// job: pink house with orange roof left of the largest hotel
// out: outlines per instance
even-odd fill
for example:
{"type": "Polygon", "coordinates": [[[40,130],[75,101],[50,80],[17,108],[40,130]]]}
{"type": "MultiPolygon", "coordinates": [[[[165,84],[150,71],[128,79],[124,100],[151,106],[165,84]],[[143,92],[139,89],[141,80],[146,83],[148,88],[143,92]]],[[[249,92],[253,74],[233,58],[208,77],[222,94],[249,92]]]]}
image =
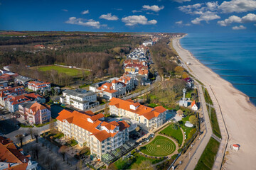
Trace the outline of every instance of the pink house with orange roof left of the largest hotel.
{"type": "Polygon", "coordinates": [[[21,118],[28,120],[30,125],[43,124],[50,121],[50,110],[37,101],[28,101],[18,106],[18,113],[21,118]]]}

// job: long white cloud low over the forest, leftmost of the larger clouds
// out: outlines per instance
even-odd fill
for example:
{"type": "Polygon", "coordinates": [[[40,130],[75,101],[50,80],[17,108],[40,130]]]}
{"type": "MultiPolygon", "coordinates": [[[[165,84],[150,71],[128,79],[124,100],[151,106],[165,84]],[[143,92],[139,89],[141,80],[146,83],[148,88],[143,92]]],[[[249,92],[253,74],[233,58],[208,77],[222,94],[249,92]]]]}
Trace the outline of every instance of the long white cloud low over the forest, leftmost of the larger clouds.
{"type": "Polygon", "coordinates": [[[68,21],[65,21],[65,23],[70,23],[70,24],[75,24],[75,25],[80,25],[80,26],[90,26],[93,28],[100,28],[100,22],[99,21],[94,21],[92,19],[85,21],[83,18],[75,18],[75,17],[70,17],[68,18],[68,21]]]}

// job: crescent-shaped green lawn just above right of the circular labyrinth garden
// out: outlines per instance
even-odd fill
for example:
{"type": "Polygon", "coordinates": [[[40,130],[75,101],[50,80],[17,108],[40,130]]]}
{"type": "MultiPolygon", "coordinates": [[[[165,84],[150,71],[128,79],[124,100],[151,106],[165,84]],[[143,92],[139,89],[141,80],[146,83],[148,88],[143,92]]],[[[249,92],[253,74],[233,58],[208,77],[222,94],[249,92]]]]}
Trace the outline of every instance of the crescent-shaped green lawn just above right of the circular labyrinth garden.
{"type": "Polygon", "coordinates": [[[164,130],[161,130],[161,132],[159,132],[162,135],[167,135],[169,137],[174,137],[174,139],[176,139],[178,141],[178,145],[181,146],[182,144],[182,140],[183,140],[183,134],[181,132],[181,129],[176,126],[175,129],[174,124],[171,124],[169,126],[167,126],[166,128],[164,128],[164,130]]]}

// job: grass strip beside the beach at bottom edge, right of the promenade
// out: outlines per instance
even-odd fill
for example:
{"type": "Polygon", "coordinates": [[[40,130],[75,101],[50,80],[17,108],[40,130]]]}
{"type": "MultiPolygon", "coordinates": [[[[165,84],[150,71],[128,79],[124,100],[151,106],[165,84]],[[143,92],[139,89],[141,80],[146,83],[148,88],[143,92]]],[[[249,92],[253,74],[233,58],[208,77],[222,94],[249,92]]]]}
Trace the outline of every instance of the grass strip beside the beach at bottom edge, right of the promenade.
{"type": "Polygon", "coordinates": [[[214,140],[212,137],[210,137],[210,140],[206,146],[206,149],[203,151],[203,154],[201,155],[195,170],[212,169],[214,164],[214,158],[218,152],[219,146],[220,146],[220,143],[214,140]]]}

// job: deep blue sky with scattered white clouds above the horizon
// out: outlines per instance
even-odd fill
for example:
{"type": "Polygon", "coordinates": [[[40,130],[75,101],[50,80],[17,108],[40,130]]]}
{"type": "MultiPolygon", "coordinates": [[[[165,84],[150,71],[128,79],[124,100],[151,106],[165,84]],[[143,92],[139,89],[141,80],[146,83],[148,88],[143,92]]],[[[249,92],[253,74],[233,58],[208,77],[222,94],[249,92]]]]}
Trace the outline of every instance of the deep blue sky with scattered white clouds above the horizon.
{"type": "Polygon", "coordinates": [[[256,0],[0,0],[0,30],[256,33],[256,0]]]}

